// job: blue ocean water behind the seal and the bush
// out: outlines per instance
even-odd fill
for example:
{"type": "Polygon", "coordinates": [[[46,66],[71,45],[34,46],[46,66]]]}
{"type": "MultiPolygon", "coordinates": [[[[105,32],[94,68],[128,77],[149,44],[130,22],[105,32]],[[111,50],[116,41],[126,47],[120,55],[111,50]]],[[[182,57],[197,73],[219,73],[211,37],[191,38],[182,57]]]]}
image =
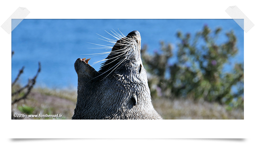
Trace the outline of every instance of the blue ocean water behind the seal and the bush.
{"type": "MultiPolygon", "coordinates": [[[[12,31],[12,81],[18,70],[25,66],[20,83],[27,83],[41,62],[42,70],[37,78],[37,86],[49,88],[77,87],[77,75],[74,62],[77,58],[91,58],[89,64],[106,58],[106,55],[95,54],[110,51],[90,43],[108,45],[110,43],[97,34],[114,39],[111,31],[120,30],[124,35],[137,30],[142,38],[142,46],[148,45],[148,51],[159,50],[160,41],[172,43],[174,53],[177,51],[177,31],[191,33],[201,31],[207,25],[210,29],[221,27],[217,43],[224,43],[226,32],[234,31],[238,38],[238,55],[225,66],[224,71],[231,70],[234,62],[244,62],[244,31],[233,19],[24,19],[12,31]],[[107,32],[106,32],[107,31],[107,32]]],[[[112,46],[112,45],[110,45],[112,46]]],[[[174,57],[171,62],[175,62],[174,57]]],[[[93,65],[97,70],[101,63],[93,65]]]]}

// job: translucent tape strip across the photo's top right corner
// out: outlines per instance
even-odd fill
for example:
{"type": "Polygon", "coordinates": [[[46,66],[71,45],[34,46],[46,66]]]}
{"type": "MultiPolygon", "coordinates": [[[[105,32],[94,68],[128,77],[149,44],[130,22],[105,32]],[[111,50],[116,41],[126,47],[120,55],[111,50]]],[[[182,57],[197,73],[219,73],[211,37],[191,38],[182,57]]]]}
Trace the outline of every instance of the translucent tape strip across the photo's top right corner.
{"type": "Polygon", "coordinates": [[[230,6],[226,9],[226,13],[238,23],[238,25],[247,33],[253,26],[254,23],[245,16],[244,13],[237,6],[230,6]],[[244,20],[244,21],[242,21],[244,20]]]}

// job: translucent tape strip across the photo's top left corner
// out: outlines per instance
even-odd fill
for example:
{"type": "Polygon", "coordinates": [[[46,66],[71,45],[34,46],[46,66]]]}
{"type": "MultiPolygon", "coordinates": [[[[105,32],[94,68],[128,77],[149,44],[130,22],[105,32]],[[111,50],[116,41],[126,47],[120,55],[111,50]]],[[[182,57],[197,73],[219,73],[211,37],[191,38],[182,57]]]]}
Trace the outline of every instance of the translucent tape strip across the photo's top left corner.
{"type": "Polygon", "coordinates": [[[2,24],[2,28],[10,34],[15,27],[30,13],[26,8],[18,7],[12,15],[2,24]]]}

